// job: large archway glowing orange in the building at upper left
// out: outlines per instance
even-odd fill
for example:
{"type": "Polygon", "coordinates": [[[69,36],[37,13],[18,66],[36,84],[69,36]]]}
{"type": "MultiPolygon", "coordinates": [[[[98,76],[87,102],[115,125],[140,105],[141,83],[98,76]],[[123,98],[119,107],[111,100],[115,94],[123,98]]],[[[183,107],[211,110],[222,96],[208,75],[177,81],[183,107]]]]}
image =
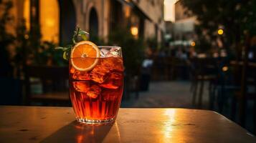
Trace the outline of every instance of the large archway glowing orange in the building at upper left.
{"type": "Polygon", "coordinates": [[[72,0],[24,0],[23,15],[27,29],[35,36],[39,35],[39,26],[43,41],[54,41],[62,45],[70,43],[76,26],[72,0]],[[32,11],[35,11],[34,14],[32,11]]]}

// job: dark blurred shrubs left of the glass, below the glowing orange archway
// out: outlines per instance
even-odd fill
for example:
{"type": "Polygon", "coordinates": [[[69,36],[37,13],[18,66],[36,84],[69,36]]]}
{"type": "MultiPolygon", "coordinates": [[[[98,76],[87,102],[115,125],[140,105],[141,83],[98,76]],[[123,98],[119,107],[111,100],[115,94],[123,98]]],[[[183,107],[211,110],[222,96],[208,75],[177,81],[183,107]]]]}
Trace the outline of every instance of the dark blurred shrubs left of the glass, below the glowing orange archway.
{"type": "MultiPolygon", "coordinates": [[[[35,30],[35,26],[34,26],[35,30]]],[[[39,30],[37,30],[39,31],[39,30]]],[[[34,65],[65,65],[62,52],[55,51],[56,45],[49,41],[40,41],[40,34],[34,36],[33,32],[26,29],[25,21],[16,28],[16,66],[26,64],[34,65]]]]}

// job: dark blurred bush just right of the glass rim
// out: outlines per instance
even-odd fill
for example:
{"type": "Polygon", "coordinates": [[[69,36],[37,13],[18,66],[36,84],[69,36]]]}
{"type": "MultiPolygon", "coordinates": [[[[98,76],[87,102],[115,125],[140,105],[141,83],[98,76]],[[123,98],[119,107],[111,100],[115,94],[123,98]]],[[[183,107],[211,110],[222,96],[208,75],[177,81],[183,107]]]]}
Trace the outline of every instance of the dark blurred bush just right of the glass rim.
{"type": "Polygon", "coordinates": [[[125,70],[131,75],[138,74],[145,49],[143,40],[135,39],[128,29],[117,28],[109,34],[108,44],[121,46],[125,70]]]}

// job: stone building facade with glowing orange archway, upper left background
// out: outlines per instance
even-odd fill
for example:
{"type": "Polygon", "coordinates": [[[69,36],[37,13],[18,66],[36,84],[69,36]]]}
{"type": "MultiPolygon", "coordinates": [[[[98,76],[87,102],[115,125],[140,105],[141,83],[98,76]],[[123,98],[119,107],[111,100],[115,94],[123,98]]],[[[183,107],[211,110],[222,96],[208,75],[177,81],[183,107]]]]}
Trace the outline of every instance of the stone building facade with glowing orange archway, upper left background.
{"type": "MultiPolygon", "coordinates": [[[[162,40],[163,0],[12,0],[14,26],[25,19],[27,30],[39,29],[43,41],[66,44],[75,26],[108,41],[118,26],[136,37],[162,40]]],[[[14,30],[13,30],[14,31],[14,30]]]]}

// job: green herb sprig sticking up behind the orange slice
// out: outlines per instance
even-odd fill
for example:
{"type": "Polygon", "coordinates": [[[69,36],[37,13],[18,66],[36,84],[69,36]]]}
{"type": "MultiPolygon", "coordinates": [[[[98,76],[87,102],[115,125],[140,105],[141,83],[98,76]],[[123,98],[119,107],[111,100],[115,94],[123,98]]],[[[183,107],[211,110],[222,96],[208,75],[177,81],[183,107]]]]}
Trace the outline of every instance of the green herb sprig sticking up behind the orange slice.
{"type": "Polygon", "coordinates": [[[89,33],[87,31],[83,31],[80,29],[79,26],[75,28],[74,35],[72,36],[72,44],[68,44],[66,46],[57,46],[55,47],[56,50],[62,50],[63,51],[63,59],[68,60],[70,58],[70,51],[75,44],[77,44],[77,39],[79,37],[82,38],[82,40],[87,40],[87,35],[89,33]]]}

